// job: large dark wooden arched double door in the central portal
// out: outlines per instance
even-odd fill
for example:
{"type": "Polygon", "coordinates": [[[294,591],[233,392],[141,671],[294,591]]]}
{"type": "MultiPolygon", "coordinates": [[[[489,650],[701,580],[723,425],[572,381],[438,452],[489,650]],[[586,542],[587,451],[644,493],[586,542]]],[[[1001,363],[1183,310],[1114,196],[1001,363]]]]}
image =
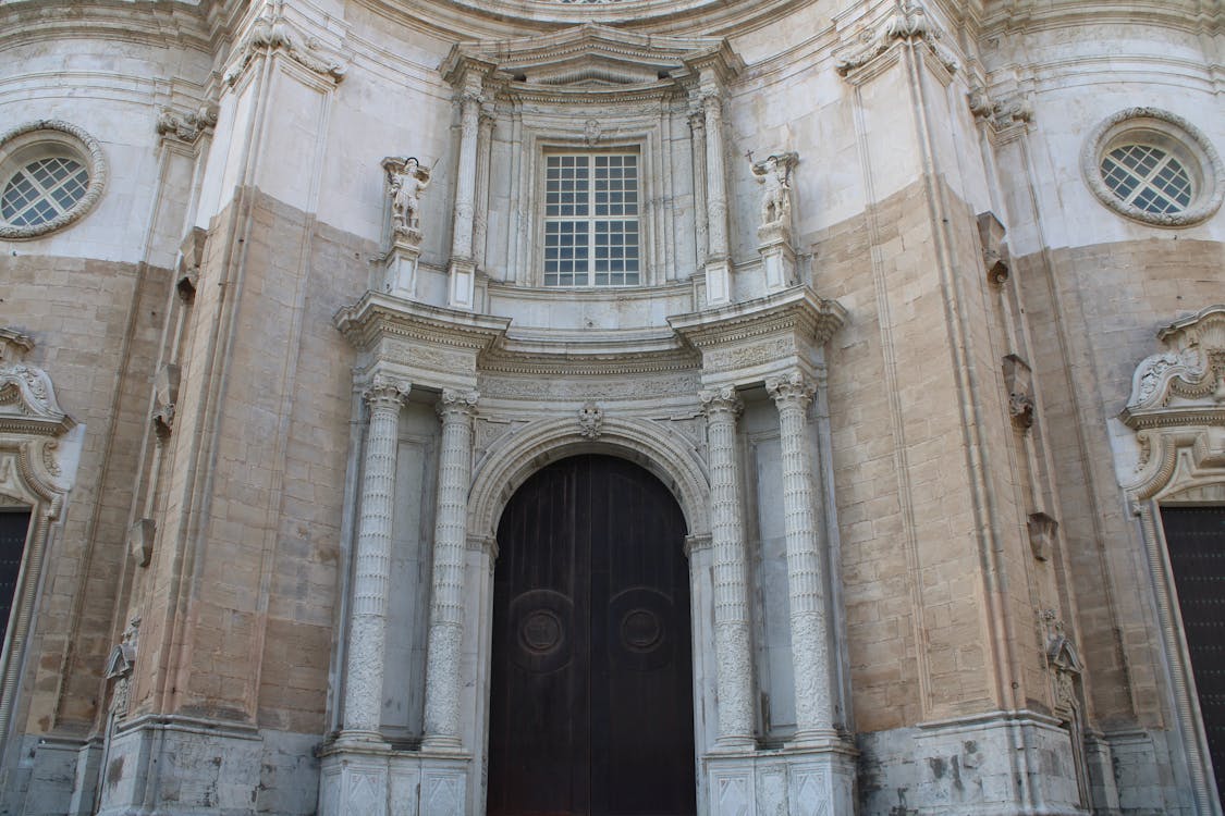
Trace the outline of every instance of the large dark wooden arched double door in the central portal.
{"type": "Polygon", "coordinates": [[[696,812],[685,521],[612,456],[537,472],[499,525],[489,814],[696,812]]]}

